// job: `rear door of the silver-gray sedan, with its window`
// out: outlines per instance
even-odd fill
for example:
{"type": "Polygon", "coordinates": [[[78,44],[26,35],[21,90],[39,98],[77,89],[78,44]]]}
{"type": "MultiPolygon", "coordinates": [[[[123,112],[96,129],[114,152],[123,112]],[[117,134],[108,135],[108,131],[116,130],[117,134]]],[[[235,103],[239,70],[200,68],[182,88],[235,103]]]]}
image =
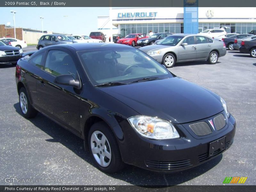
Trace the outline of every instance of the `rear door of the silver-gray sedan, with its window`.
{"type": "Polygon", "coordinates": [[[208,43],[204,36],[196,36],[196,59],[206,59],[211,50],[212,43],[208,43]]]}

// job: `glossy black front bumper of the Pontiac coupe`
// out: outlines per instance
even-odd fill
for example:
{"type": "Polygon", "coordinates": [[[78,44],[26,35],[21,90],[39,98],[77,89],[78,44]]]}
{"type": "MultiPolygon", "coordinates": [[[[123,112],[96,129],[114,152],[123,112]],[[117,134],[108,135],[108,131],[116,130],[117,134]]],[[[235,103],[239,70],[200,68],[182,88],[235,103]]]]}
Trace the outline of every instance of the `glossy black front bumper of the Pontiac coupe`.
{"type": "MultiPolygon", "coordinates": [[[[211,118],[213,117],[203,121],[208,122],[207,120],[211,118]]],[[[226,151],[231,146],[236,132],[236,121],[232,115],[224,128],[208,136],[194,136],[188,132],[188,128],[185,128],[186,124],[177,124],[175,127],[181,137],[169,140],[141,137],[127,127],[130,126],[128,121],[120,125],[126,135],[126,138],[119,143],[123,161],[153,172],[178,172],[203,164],[226,151]],[[210,143],[223,137],[225,137],[224,150],[216,148],[210,156],[210,143]]]]}

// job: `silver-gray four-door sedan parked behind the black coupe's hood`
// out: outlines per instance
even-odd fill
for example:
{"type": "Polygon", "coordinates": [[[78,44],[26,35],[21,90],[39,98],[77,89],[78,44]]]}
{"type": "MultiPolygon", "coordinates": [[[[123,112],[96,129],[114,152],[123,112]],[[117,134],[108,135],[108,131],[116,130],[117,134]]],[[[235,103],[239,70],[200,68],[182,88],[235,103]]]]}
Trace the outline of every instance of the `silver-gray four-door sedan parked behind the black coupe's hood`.
{"type": "Polygon", "coordinates": [[[155,45],[140,48],[166,68],[176,62],[207,60],[215,64],[219,57],[226,55],[223,42],[203,35],[175,34],[165,37],[155,45]]]}

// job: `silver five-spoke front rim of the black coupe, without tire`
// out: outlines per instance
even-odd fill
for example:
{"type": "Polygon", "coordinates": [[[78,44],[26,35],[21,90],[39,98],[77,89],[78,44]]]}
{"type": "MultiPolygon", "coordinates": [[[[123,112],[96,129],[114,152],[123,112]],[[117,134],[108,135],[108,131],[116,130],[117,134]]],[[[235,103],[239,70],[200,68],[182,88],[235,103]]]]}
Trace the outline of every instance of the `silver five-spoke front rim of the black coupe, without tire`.
{"type": "Polygon", "coordinates": [[[91,136],[92,155],[96,162],[107,167],[111,162],[111,149],[107,137],[100,131],[95,131],[91,136]]]}

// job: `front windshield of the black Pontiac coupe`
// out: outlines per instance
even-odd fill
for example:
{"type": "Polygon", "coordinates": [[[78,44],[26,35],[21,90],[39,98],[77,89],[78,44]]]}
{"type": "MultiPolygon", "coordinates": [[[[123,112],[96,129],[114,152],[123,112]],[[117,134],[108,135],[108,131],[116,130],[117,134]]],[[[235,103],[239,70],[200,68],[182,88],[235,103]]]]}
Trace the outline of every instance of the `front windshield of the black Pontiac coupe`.
{"type": "Polygon", "coordinates": [[[153,80],[173,77],[161,64],[137,49],[80,51],[78,55],[94,86],[109,82],[127,84],[144,78],[153,80]]]}

